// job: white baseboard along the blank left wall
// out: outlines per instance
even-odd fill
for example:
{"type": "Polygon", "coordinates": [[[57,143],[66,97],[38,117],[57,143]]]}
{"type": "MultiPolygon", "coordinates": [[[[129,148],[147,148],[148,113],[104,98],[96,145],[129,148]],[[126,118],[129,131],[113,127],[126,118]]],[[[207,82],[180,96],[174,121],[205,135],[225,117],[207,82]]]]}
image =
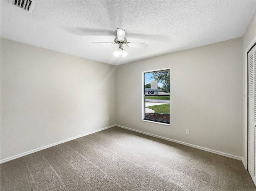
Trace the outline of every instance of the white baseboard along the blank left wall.
{"type": "Polygon", "coordinates": [[[75,137],[72,137],[72,138],[68,138],[66,140],[62,140],[62,141],[59,141],[59,142],[56,142],[56,143],[53,143],[53,144],[50,144],[50,145],[46,145],[46,146],[43,146],[43,147],[40,147],[40,148],[37,148],[37,149],[33,149],[33,150],[30,150],[30,151],[27,151],[27,152],[24,152],[24,153],[21,153],[21,154],[12,156],[12,157],[8,157],[8,158],[0,160],[0,163],[4,163],[4,162],[7,162],[7,161],[16,159],[16,158],[20,158],[20,157],[26,156],[28,154],[32,154],[32,153],[38,152],[40,150],[44,150],[44,149],[50,148],[52,146],[56,146],[58,144],[62,144],[62,143],[65,143],[65,142],[68,142],[68,141],[71,141],[71,140],[74,140],[74,139],[77,139],[77,138],[80,138],[80,137],[83,137],[83,136],[86,136],[86,135],[90,135],[90,134],[93,134],[93,133],[96,133],[96,132],[99,132],[99,131],[102,131],[102,130],[105,130],[105,129],[108,129],[108,128],[111,128],[111,127],[114,127],[114,126],[116,126],[116,125],[101,128],[101,129],[91,131],[91,132],[88,132],[88,133],[85,133],[85,134],[82,134],[82,135],[78,135],[78,136],[75,136],[75,137]]]}

